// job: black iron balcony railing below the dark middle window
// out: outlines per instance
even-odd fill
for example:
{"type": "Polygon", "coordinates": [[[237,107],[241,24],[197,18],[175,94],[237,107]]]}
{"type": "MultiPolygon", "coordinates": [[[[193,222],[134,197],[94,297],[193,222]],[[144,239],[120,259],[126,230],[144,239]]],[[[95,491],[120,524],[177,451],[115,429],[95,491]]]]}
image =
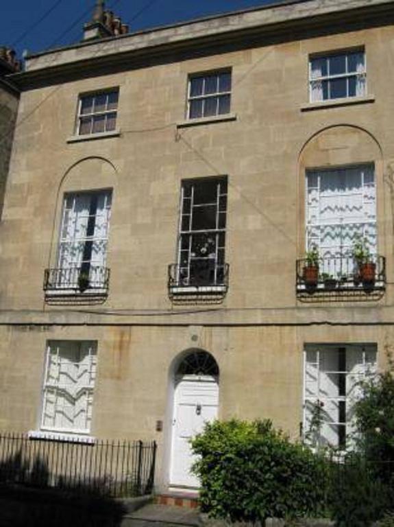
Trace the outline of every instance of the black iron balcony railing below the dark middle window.
{"type": "Polygon", "coordinates": [[[215,266],[212,260],[193,262],[190,267],[169,265],[169,293],[225,294],[228,289],[229,265],[215,266]]]}

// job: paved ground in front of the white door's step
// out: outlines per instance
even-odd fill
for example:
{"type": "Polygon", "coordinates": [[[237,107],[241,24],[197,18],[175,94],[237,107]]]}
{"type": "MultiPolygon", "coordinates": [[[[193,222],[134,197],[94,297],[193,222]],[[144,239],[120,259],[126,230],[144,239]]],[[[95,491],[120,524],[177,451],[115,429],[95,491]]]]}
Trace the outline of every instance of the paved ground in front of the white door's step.
{"type": "Polygon", "coordinates": [[[127,514],[123,518],[121,527],[198,527],[199,525],[199,512],[196,509],[149,504],[134,513],[127,514]]]}

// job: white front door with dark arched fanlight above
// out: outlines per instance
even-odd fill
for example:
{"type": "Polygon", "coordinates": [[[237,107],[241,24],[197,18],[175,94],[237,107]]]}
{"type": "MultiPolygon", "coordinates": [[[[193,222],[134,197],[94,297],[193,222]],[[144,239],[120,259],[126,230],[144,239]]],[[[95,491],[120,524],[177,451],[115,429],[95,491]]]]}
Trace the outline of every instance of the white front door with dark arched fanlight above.
{"type": "Polygon", "coordinates": [[[193,456],[188,439],[201,432],[206,421],[217,418],[217,361],[204,349],[186,349],[170,366],[169,388],[169,487],[197,489],[198,479],[190,473],[193,456]]]}

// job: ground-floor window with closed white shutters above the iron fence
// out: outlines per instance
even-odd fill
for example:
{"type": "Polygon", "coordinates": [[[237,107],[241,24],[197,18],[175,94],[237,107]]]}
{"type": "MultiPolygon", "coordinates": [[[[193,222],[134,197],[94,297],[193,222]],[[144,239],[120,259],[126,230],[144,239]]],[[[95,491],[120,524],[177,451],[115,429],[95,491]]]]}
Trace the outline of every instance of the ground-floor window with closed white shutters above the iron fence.
{"type": "Polygon", "coordinates": [[[42,430],[90,432],[97,342],[48,343],[42,400],[42,430]]]}

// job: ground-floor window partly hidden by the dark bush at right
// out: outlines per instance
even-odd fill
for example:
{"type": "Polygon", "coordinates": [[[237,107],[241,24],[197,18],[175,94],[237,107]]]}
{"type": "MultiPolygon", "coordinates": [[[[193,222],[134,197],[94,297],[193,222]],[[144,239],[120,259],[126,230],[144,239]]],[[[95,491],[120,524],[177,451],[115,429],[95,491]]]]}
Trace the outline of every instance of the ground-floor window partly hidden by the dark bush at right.
{"type": "Polygon", "coordinates": [[[360,382],[376,371],[375,344],[310,344],[304,359],[304,438],[310,445],[352,447],[360,382]]]}

